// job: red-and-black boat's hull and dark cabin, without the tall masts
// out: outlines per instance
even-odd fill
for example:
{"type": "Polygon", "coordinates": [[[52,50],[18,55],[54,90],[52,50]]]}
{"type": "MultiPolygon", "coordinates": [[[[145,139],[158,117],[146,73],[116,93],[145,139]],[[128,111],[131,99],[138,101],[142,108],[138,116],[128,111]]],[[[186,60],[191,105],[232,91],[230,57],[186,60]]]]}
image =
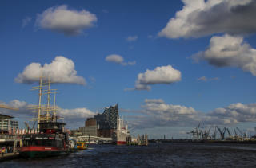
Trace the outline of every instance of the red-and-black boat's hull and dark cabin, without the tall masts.
{"type": "Polygon", "coordinates": [[[19,154],[24,158],[41,158],[68,154],[68,135],[62,132],[65,123],[40,123],[44,129],[38,134],[27,134],[22,137],[19,154]]]}

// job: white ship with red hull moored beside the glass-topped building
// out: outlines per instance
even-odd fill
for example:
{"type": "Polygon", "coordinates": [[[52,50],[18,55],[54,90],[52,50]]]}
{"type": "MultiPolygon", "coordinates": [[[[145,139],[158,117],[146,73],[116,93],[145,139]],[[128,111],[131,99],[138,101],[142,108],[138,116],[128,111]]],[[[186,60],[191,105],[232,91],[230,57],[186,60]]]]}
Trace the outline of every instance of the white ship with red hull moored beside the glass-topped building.
{"type": "Polygon", "coordinates": [[[127,139],[130,136],[128,125],[125,126],[123,119],[120,119],[120,117],[118,117],[117,130],[114,131],[114,134],[114,143],[117,145],[127,144],[127,139]]]}

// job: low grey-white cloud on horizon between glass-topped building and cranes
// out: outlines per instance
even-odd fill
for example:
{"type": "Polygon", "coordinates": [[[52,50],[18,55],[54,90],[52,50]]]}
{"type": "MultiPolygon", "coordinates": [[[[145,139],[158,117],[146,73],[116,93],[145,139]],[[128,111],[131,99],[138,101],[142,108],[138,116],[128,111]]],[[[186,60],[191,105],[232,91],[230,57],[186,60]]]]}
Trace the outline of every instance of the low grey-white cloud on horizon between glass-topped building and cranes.
{"type": "Polygon", "coordinates": [[[162,99],[146,99],[141,112],[144,115],[131,122],[133,127],[193,126],[198,123],[198,111],[194,108],[166,104],[162,99]]]}

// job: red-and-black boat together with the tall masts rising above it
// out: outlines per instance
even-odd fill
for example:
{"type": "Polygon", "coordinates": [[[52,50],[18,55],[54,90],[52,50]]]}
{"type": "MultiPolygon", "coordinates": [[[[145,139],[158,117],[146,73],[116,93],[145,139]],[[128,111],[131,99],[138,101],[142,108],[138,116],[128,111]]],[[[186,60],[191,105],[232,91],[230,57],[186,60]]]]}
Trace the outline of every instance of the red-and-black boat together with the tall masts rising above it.
{"type": "Polygon", "coordinates": [[[22,137],[22,146],[19,148],[19,154],[24,158],[42,158],[60,154],[68,154],[69,138],[65,132],[66,123],[58,121],[62,119],[56,114],[55,104],[56,89],[50,89],[50,79],[42,84],[40,78],[39,86],[34,87],[39,91],[38,106],[33,107],[38,111],[37,132],[26,134],[22,137]],[[54,106],[50,106],[50,94],[54,93],[54,106]],[[47,104],[42,105],[42,95],[47,96],[47,104]]]}

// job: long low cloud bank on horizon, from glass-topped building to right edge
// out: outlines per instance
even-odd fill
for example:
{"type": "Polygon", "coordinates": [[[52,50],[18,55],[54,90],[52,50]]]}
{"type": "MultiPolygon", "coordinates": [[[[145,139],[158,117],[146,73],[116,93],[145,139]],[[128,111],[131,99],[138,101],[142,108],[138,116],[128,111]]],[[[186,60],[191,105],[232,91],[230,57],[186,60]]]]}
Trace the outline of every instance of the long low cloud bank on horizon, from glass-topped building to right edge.
{"type": "Polygon", "coordinates": [[[256,121],[256,104],[230,104],[228,107],[202,112],[193,107],[166,104],[162,99],[146,99],[142,110],[137,112],[142,115],[131,122],[137,128],[194,127],[198,123],[229,126],[256,121]]]}

